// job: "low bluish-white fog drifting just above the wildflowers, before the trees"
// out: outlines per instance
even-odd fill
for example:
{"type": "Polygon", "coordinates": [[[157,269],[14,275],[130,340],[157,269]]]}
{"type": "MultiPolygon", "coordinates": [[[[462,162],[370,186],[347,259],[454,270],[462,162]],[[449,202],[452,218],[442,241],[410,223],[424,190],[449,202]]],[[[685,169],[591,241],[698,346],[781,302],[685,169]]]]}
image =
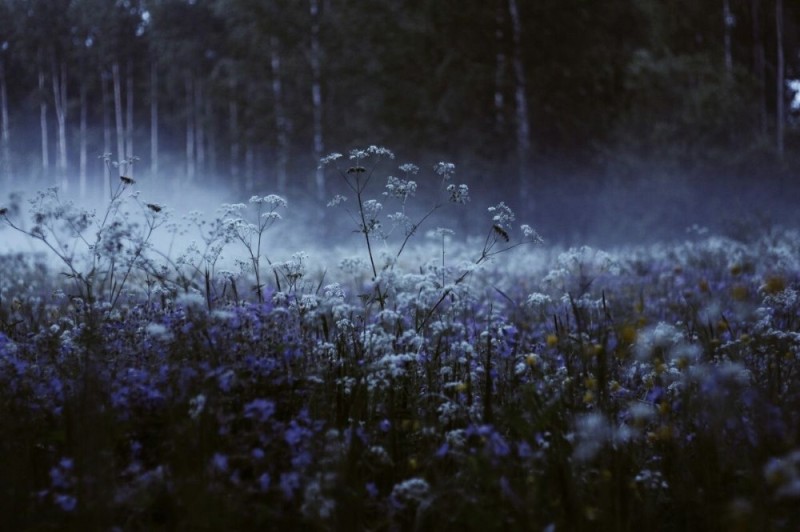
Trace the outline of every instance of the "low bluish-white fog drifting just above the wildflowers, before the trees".
{"type": "MultiPolygon", "coordinates": [[[[383,204],[381,215],[384,231],[392,230],[386,215],[401,209],[396,200],[382,194],[385,178],[391,173],[389,168],[382,174],[376,172],[364,194],[364,199],[374,198],[383,204]]],[[[499,201],[504,201],[515,211],[517,216],[513,229],[517,237],[521,236],[519,226],[530,224],[545,239],[546,246],[553,248],[591,245],[612,250],[620,246],[680,241],[689,237],[687,231],[695,234],[708,231],[746,240],[776,225],[800,225],[793,200],[798,197],[797,187],[790,187],[787,183],[744,179],[708,179],[690,183],[653,177],[615,182],[609,179],[563,177],[551,179],[548,183],[537,183],[532,197],[522,201],[514,194],[503,197],[493,192],[486,182],[481,183],[480,178],[473,178],[468,180],[471,191],[488,192],[472,192],[469,203],[454,205],[447,203],[446,197],[438,195],[436,186],[431,185],[433,177],[422,174],[424,171],[417,176],[419,189],[415,197],[409,198],[406,214],[413,221],[418,221],[437,201],[442,206],[421,224],[402,255],[412,268],[419,267],[416,259],[440,258],[441,236],[431,234],[439,227],[454,232],[447,237],[446,261],[477,258],[487,231],[492,228],[487,208],[499,201]]],[[[454,181],[458,182],[458,178],[454,181]]],[[[262,255],[271,262],[283,262],[297,252],[304,252],[308,255],[309,272],[327,270],[331,275],[338,270],[343,257],[358,256],[367,260],[364,237],[358,231],[357,203],[352,192],[346,190],[340,181],[331,181],[330,188],[333,189],[331,197],[335,193],[342,193],[350,196],[349,201],[337,207],[327,207],[308,195],[288,195],[288,206],[277,210],[281,219],[264,233],[262,255]]],[[[13,191],[18,191],[18,187],[14,187],[13,191]]],[[[9,192],[12,191],[2,194],[0,207],[8,205],[9,192]]],[[[30,229],[32,222],[25,210],[29,207],[27,199],[34,197],[36,191],[21,192],[26,198],[21,203],[23,213],[11,219],[30,229]]],[[[248,204],[251,195],[263,196],[273,192],[265,188],[236,194],[222,187],[164,186],[142,178],[126,189],[123,197],[127,198],[125,209],[140,221],[146,203],[164,207],[158,216],[169,217],[172,223],[159,227],[152,242],[156,249],[174,260],[192,241],[202,244],[192,224],[187,222],[191,212],[199,211],[201,218],[213,222],[215,217],[220,216],[218,209],[222,204],[248,204]],[[131,194],[138,195],[138,203],[131,194]]],[[[65,201],[74,201],[94,210],[100,217],[108,204],[107,199],[101,197],[81,201],[69,192],[61,196],[65,201]]],[[[245,217],[254,214],[252,206],[248,205],[244,214],[245,217]]],[[[376,256],[382,251],[395,254],[403,236],[400,227],[390,233],[385,243],[373,236],[376,256]]],[[[515,235],[511,237],[513,241],[515,235]]],[[[525,246],[515,252],[527,254],[533,249],[533,246],[525,246]]],[[[78,244],[78,254],[80,251],[78,244]]],[[[40,252],[54,258],[40,242],[3,224],[0,228],[0,253],[16,252],[40,252]]],[[[222,253],[217,269],[234,270],[237,268],[236,261],[246,258],[247,252],[241,243],[232,242],[222,253]]],[[[403,262],[401,260],[401,266],[403,262]]],[[[454,263],[448,262],[448,265],[454,263]]]]}

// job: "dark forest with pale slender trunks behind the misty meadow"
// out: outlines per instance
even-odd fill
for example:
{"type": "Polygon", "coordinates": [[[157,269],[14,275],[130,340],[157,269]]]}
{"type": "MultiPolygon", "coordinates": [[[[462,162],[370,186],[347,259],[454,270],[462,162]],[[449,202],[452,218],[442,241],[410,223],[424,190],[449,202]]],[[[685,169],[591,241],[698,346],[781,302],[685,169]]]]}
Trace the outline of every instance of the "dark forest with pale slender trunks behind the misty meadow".
{"type": "Polygon", "coordinates": [[[0,179],[86,194],[108,187],[110,153],[159,186],[324,198],[316,160],[367,144],[447,157],[478,191],[491,175],[522,198],[570,173],[788,175],[798,14],[793,0],[0,0],[0,179]]]}

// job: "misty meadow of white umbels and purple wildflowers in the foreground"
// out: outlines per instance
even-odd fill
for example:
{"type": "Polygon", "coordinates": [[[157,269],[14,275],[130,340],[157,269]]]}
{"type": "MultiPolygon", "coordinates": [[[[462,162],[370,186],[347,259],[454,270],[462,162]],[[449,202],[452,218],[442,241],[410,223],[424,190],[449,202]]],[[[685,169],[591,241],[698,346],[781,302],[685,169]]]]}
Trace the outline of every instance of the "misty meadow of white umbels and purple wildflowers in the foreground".
{"type": "Polygon", "coordinates": [[[324,273],[269,256],[277,196],[2,207],[56,266],[0,257],[0,528],[800,527],[800,233],[559,250],[501,203],[462,241],[454,166],[415,218],[392,158],[323,161],[363,245],[324,273]]]}

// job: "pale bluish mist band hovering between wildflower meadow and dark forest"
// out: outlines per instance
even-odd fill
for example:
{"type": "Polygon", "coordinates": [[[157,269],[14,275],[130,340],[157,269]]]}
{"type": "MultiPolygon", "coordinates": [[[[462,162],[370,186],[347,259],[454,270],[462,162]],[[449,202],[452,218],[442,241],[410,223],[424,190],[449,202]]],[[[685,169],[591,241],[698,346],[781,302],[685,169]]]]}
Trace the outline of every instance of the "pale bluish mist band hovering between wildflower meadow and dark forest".
{"type": "MultiPolygon", "coordinates": [[[[384,214],[390,214],[397,207],[384,195],[386,178],[399,173],[398,165],[394,163],[396,161],[389,161],[377,167],[370,187],[365,191],[365,198],[385,204],[384,214]]],[[[460,173],[458,166],[456,172],[460,173]]],[[[613,248],[675,242],[684,239],[689,230],[747,239],[773,227],[796,227],[800,223],[794,199],[798,187],[787,178],[774,181],[741,177],[689,180],[642,176],[623,182],[599,177],[562,175],[541,178],[532,175],[530,179],[536,183],[534,191],[529,198],[522,199],[515,194],[503,196],[501,191],[493,188],[491,172],[484,175],[465,173],[467,176],[463,181],[470,190],[480,191],[481,195],[473,192],[465,205],[435,210],[418,228],[412,239],[413,245],[425,243],[428,240],[425,233],[437,227],[452,229],[455,234],[451,238],[456,242],[485,235],[491,227],[487,208],[500,201],[517,214],[517,225],[532,225],[549,245],[560,247],[589,244],[613,248]]],[[[213,180],[209,178],[208,182],[213,180]]],[[[416,176],[416,182],[419,189],[405,206],[412,218],[421,217],[442,198],[440,183],[431,169],[423,169],[421,175],[416,176]]],[[[141,211],[146,203],[165,208],[165,215],[173,223],[161,227],[153,235],[153,242],[164,252],[176,252],[197,238],[186,227],[190,213],[211,221],[220,215],[219,209],[223,204],[247,203],[252,194],[274,193],[270,188],[265,185],[245,192],[219,184],[153,183],[152,178],[143,177],[137,179],[127,193],[135,193],[140,200],[138,207],[135,203],[129,206],[132,212],[141,211]]],[[[327,200],[335,194],[348,192],[336,172],[331,173],[329,188],[331,193],[327,200]]],[[[18,185],[13,187],[13,192],[21,193],[24,198],[20,202],[21,220],[25,219],[29,200],[42,189],[37,185],[28,190],[20,190],[18,185]]],[[[9,191],[2,192],[4,199],[0,205],[9,204],[9,191]]],[[[81,199],[72,191],[60,193],[60,197],[98,213],[108,205],[108,198],[102,197],[101,193],[81,199]]],[[[286,199],[288,206],[280,212],[282,219],[265,235],[266,250],[271,257],[303,250],[318,260],[332,252],[355,252],[363,246],[363,235],[357,231],[357,220],[353,217],[355,205],[352,201],[333,207],[327,206],[327,200],[319,201],[309,194],[290,193],[286,199]]],[[[385,223],[384,229],[390,231],[391,228],[385,223]]],[[[390,234],[387,245],[397,240],[398,232],[395,230],[390,234]]],[[[42,250],[30,238],[10,228],[2,230],[0,235],[0,253],[42,250]]],[[[227,254],[231,253],[233,250],[227,254]]]]}

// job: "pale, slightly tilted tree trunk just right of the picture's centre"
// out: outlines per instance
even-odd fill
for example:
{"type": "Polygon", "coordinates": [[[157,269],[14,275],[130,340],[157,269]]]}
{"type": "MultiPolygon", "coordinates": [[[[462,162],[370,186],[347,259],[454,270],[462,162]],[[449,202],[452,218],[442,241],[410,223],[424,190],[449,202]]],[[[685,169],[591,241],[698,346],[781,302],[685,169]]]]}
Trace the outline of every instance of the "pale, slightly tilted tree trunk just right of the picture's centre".
{"type": "Polygon", "coordinates": [[[508,0],[508,14],[514,39],[514,99],[517,129],[517,178],[520,184],[520,195],[523,201],[530,196],[529,166],[531,163],[531,124],[528,116],[528,96],[525,81],[525,67],[522,63],[522,22],[520,20],[517,0],[508,0]]]}

